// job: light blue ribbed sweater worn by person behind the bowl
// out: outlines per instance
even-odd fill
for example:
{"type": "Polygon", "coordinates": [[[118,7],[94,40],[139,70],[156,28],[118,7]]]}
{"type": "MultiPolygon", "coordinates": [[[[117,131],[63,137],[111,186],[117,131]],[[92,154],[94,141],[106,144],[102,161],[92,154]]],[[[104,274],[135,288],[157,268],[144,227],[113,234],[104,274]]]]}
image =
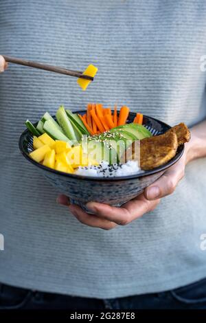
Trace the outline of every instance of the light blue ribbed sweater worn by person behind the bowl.
{"type": "Polygon", "coordinates": [[[0,76],[0,281],[95,298],[165,291],[206,276],[206,159],[141,219],[104,231],[79,223],[18,148],[23,122],[60,104],[128,105],[174,125],[206,117],[205,0],[1,0],[0,53],[81,70],[76,79],[10,65],[0,76]]]}

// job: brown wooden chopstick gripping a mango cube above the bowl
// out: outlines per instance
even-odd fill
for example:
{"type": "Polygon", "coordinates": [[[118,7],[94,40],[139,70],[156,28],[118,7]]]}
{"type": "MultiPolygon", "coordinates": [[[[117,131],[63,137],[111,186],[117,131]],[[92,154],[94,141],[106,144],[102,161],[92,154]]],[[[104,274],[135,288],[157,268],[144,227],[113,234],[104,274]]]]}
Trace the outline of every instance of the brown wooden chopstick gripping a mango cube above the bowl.
{"type": "Polygon", "coordinates": [[[36,69],[45,69],[45,71],[54,71],[55,73],[65,74],[69,76],[74,76],[76,78],[84,78],[86,80],[93,81],[93,77],[82,74],[82,71],[73,71],[71,69],[64,69],[62,67],[52,66],[52,65],[45,65],[37,62],[32,62],[31,60],[24,60],[21,58],[11,57],[7,55],[3,55],[6,62],[25,65],[29,67],[34,67],[36,69]]]}

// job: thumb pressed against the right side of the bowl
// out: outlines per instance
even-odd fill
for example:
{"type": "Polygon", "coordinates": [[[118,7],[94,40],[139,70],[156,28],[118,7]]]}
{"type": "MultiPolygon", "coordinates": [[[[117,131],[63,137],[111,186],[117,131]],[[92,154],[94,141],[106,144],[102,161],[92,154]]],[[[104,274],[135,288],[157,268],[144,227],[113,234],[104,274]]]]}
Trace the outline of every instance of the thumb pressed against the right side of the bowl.
{"type": "Polygon", "coordinates": [[[155,183],[146,188],[144,196],[151,201],[172,194],[179,181],[183,178],[184,172],[184,164],[179,163],[172,166],[155,183]]]}

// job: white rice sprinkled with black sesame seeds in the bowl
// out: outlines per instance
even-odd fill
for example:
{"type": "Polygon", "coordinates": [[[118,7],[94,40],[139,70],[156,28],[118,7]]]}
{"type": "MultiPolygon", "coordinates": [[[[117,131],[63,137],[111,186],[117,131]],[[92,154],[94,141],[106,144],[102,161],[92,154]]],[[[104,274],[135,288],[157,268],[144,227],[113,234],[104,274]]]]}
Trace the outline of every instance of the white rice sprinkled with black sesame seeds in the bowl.
{"type": "Polygon", "coordinates": [[[100,166],[78,167],[75,171],[76,175],[92,176],[92,177],[124,177],[135,175],[142,172],[137,161],[130,160],[126,164],[109,165],[107,161],[101,161],[100,166]]]}

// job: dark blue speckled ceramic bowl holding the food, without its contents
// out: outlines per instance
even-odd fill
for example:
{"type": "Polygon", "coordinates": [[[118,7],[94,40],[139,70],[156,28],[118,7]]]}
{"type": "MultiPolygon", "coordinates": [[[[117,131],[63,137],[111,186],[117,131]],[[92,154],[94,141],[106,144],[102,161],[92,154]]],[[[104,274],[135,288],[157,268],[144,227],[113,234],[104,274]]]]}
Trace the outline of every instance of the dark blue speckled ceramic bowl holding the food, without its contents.
{"type": "MultiPolygon", "coordinates": [[[[85,111],[78,111],[78,113],[85,113],[85,111]]],[[[134,117],[135,113],[130,113],[129,121],[132,122],[134,117]]],[[[170,129],[168,124],[146,115],[144,115],[143,124],[153,135],[159,135],[170,129]]],[[[184,151],[184,145],[182,145],[179,147],[176,156],[167,164],[144,173],[126,177],[97,178],[67,174],[38,164],[29,156],[29,153],[32,151],[32,135],[28,130],[22,133],[19,139],[19,148],[23,156],[34,166],[38,167],[38,170],[58,192],[67,195],[70,197],[71,203],[76,203],[82,206],[82,208],[84,208],[88,201],[98,201],[120,206],[134,199],[147,186],[161,177],[167,168],[176,163],[184,151]]]]}

